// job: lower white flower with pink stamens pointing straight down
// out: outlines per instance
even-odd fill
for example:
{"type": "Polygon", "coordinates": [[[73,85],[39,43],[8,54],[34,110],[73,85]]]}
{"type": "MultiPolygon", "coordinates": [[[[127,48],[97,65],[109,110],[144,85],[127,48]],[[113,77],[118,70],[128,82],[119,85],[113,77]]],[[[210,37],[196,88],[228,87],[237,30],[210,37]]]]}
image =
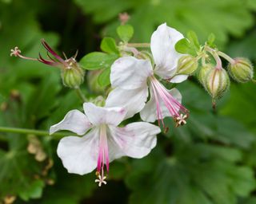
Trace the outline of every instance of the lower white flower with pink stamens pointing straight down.
{"type": "Polygon", "coordinates": [[[94,171],[98,186],[106,184],[109,164],[122,156],[142,158],[156,145],[160,129],[146,122],[118,128],[124,120],[124,108],[102,108],[92,103],[83,105],[84,112],[72,110],[58,124],[50,127],[50,134],[59,130],[73,131],[79,136],[67,136],[58,143],[58,156],[69,173],[85,175],[94,171]]]}

